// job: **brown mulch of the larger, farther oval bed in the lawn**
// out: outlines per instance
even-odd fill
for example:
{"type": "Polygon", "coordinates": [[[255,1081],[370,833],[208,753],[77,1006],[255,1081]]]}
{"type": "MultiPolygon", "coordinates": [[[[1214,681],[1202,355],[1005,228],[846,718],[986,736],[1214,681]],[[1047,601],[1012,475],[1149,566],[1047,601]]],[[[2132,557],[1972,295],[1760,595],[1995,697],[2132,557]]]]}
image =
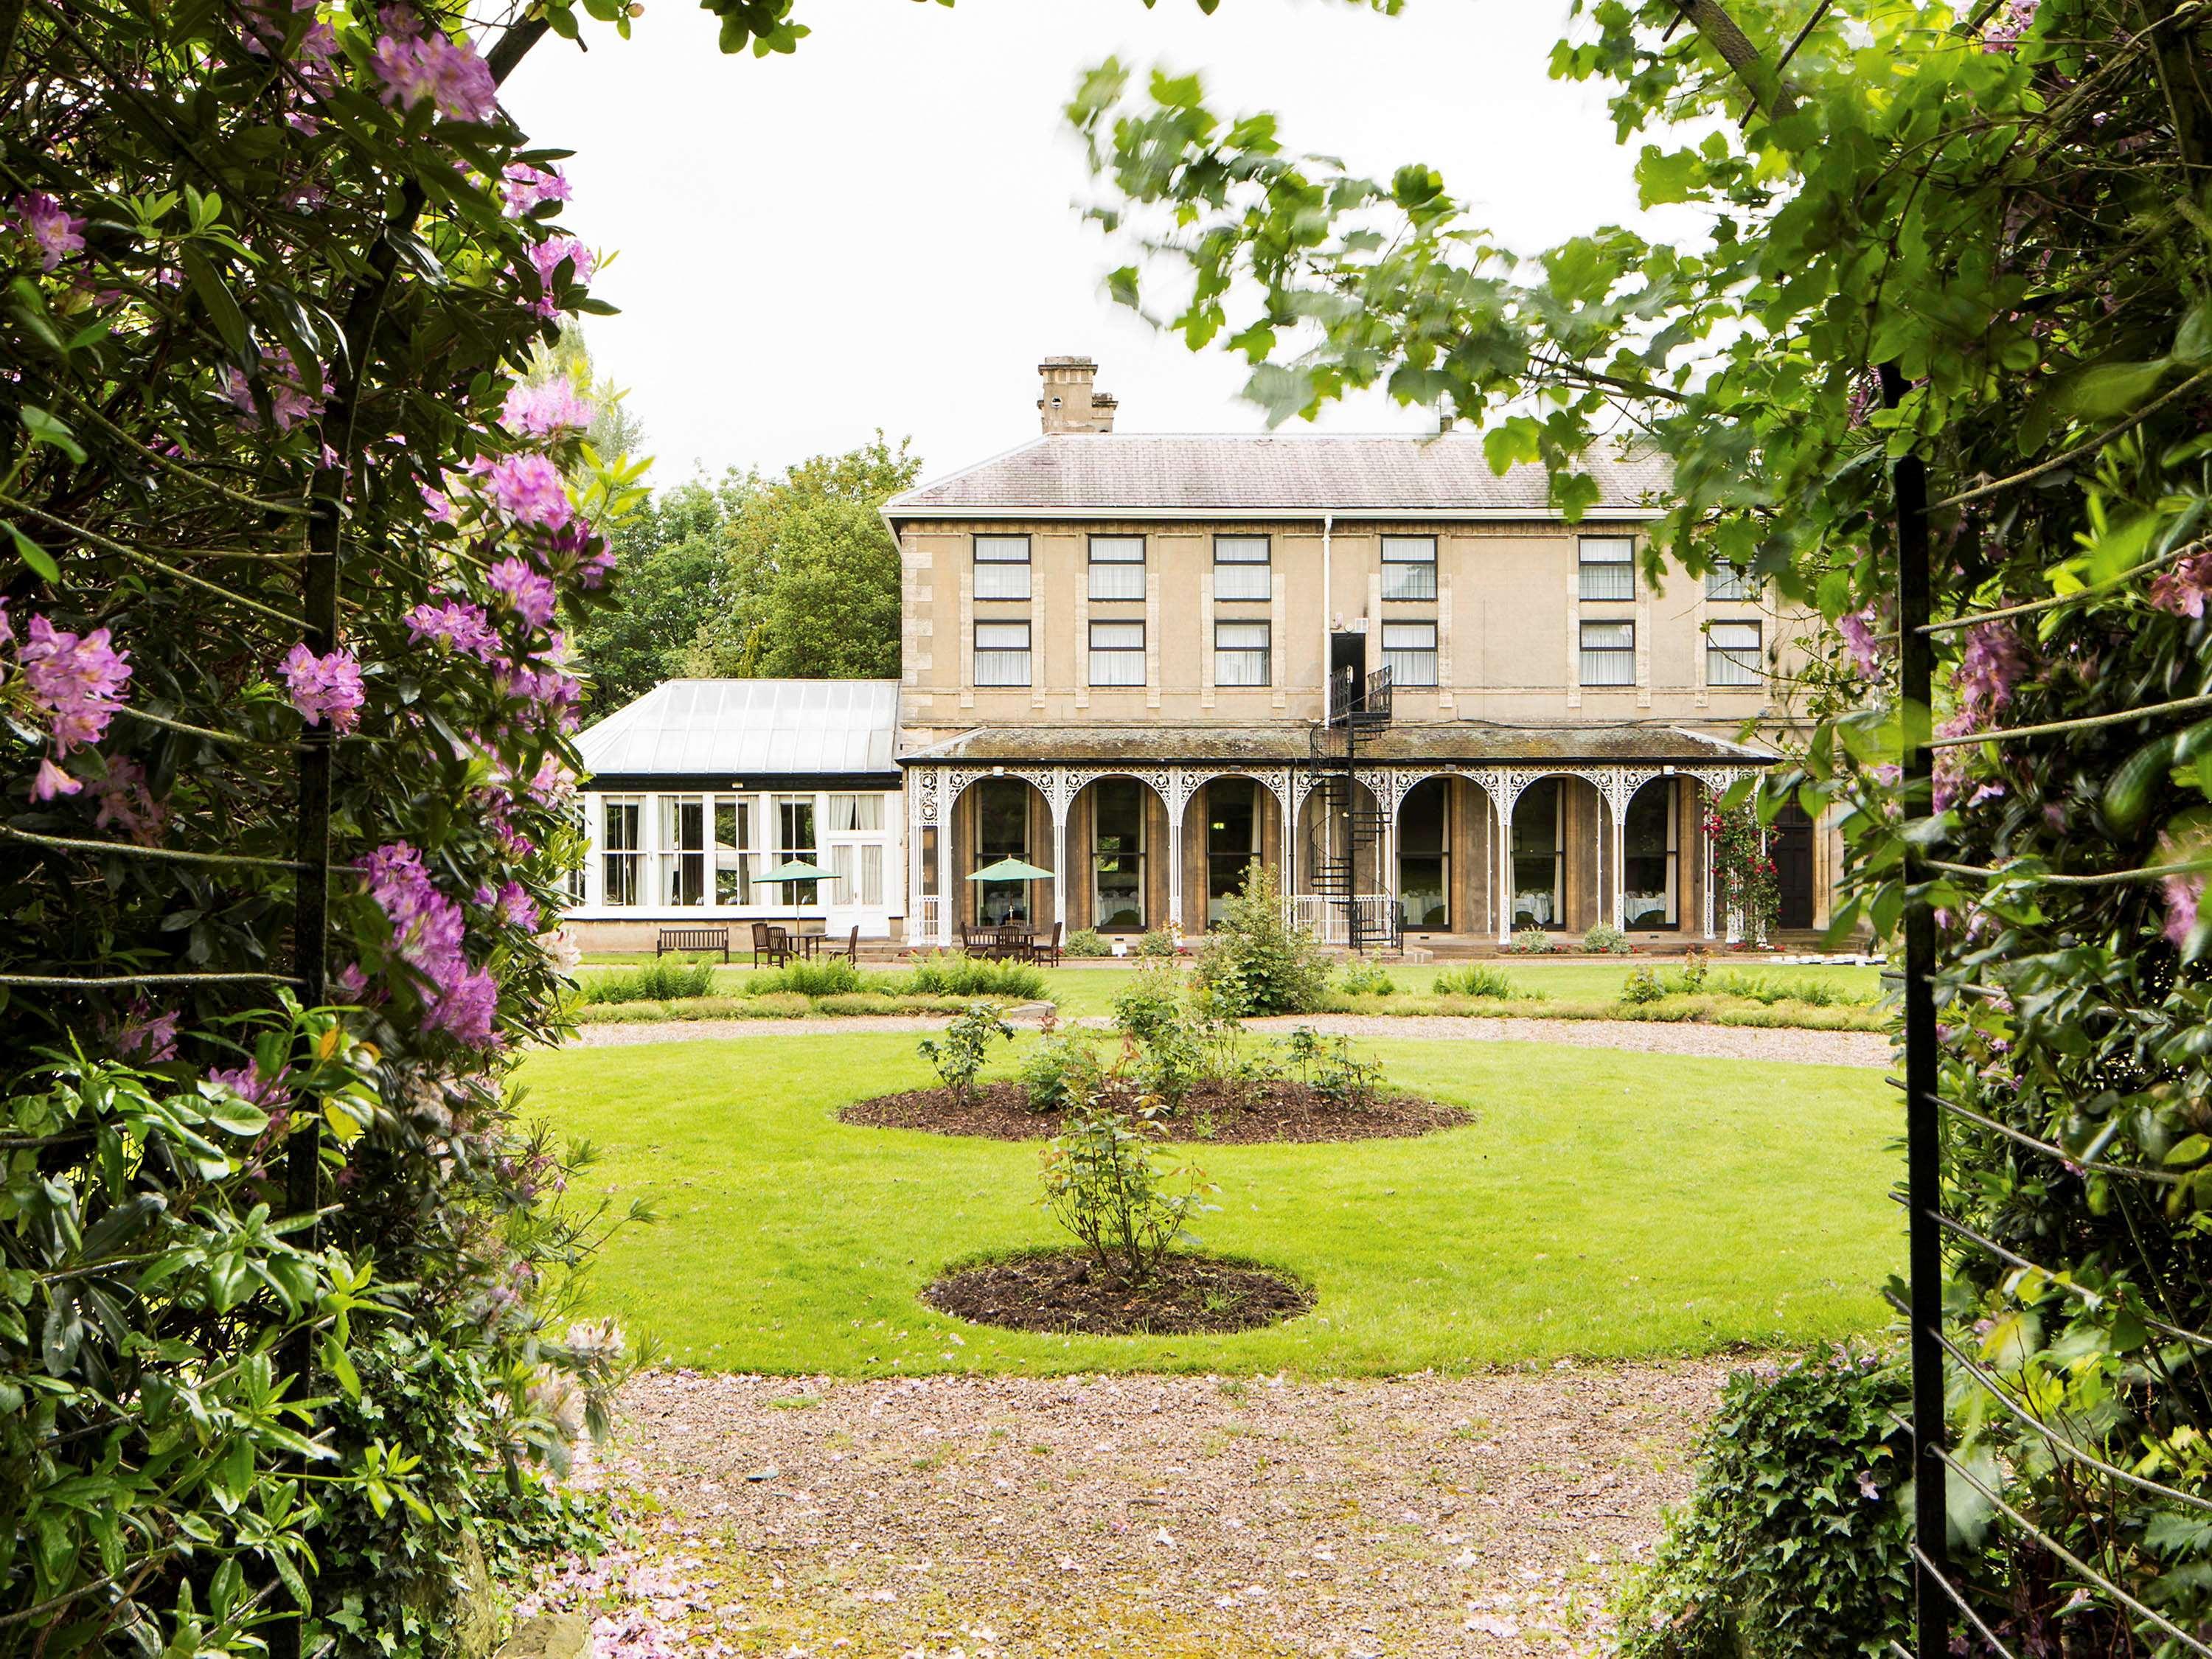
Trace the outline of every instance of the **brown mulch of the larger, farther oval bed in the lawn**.
{"type": "MultiPolygon", "coordinates": [[[[978,1135],[993,1141],[1042,1141],[1060,1133],[1064,1113],[1029,1110],[1022,1084],[987,1084],[960,1102],[949,1088],[909,1088],[876,1095],[838,1113],[841,1124],[918,1128],[929,1135],[978,1135]]],[[[1170,1141],[1374,1141],[1433,1135],[1473,1124],[1471,1113],[1411,1095],[1378,1095],[1367,1106],[1343,1106],[1310,1084],[1276,1082],[1265,1088],[1203,1084],[1181,1110],[1155,1119],[1170,1141]]]]}

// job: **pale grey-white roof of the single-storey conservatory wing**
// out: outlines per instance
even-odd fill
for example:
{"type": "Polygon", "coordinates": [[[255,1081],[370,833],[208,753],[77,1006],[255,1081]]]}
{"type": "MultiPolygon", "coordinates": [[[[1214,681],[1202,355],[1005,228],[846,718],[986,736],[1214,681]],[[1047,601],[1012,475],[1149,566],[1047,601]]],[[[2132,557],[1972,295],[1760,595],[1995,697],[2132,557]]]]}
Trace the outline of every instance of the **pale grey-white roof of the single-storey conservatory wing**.
{"type": "Polygon", "coordinates": [[[670,679],[575,745],[595,776],[880,776],[896,730],[896,679],[670,679]]]}

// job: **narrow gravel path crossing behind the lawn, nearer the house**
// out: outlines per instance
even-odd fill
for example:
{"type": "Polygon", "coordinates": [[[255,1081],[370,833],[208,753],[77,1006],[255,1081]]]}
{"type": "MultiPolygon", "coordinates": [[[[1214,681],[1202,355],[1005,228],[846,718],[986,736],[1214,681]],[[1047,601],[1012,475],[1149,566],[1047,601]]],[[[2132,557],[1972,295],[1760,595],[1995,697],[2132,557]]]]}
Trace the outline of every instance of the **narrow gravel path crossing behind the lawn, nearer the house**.
{"type": "MultiPolygon", "coordinates": [[[[849,1031],[938,1031],[933,1015],[863,1013],[834,1020],[664,1020],[580,1026],[575,1046],[613,1048],[633,1042],[706,1042],[710,1037],[834,1037],[849,1031]]],[[[1015,1015],[1013,1024],[1035,1026],[1015,1015]]],[[[1108,1026],[1086,1018],[1082,1026],[1108,1026]]],[[[1555,1042],[1582,1048],[1628,1048],[1646,1055],[1710,1055],[1717,1060],[1783,1060],[1798,1066],[1889,1066],[1889,1037],[1880,1031],[1796,1031],[1787,1026],[1661,1024],[1657,1020],[1462,1020],[1455,1015],[1310,1013],[1248,1020],[1252,1031],[1312,1026],[1323,1035],[1409,1042],[1555,1042]]]]}

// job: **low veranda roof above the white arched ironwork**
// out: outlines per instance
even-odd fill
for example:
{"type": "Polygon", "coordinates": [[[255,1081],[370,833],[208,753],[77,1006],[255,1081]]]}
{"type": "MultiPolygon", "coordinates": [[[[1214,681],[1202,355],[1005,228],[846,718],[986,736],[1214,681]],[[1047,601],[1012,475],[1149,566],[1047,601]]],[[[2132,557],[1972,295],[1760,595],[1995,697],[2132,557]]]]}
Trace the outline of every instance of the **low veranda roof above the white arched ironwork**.
{"type": "MultiPolygon", "coordinates": [[[[1307,726],[978,726],[909,750],[900,765],[1283,765],[1307,759],[1307,726]]],[[[1774,765],[1778,754],[1681,726],[1493,726],[1422,721],[1360,734],[1360,763],[1394,765],[1774,765]]]]}

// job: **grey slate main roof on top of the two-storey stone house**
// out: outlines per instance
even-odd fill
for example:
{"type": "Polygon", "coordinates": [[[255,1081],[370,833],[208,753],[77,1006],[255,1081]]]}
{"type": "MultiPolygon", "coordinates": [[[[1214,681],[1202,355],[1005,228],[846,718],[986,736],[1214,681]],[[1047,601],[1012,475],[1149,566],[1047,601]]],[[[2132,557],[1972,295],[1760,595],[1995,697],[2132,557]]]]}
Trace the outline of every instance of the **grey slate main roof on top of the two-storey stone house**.
{"type": "MultiPolygon", "coordinates": [[[[1657,456],[1590,456],[1595,518],[1652,518],[1668,489],[1657,456]]],[[[1389,518],[1555,518],[1542,467],[1502,478],[1473,436],[1349,438],[1332,434],[1155,436],[1053,434],[894,495],[891,522],[914,518],[1365,513],[1389,518]]]]}

